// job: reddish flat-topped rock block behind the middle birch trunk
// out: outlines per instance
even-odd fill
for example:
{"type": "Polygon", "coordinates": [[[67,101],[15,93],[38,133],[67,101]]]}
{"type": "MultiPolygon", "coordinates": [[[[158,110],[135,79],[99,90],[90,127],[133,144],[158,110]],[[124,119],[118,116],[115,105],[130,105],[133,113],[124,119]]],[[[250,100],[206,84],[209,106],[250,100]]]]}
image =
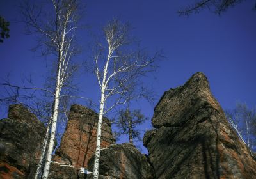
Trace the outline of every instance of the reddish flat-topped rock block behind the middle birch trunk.
{"type": "MultiPolygon", "coordinates": [[[[97,122],[99,114],[81,105],[72,105],[70,116],[61,139],[57,155],[68,159],[76,169],[87,168],[88,160],[96,148],[97,122]]],[[[111,125],[107,118],[103,118],[101,147],[105,148],[115,143],[111,125]]]]}

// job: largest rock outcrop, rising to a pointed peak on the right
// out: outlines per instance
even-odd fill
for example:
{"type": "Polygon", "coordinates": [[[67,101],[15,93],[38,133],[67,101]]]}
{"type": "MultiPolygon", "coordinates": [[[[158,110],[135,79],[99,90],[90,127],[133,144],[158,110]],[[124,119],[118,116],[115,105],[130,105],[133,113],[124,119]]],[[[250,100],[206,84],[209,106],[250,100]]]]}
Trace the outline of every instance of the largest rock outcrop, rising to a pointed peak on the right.
{"type": "Polygon", "coordinates": [[[256,178],[256,161],[201,72],[164,93],[152,124],[143,143],[156,178],[256,178]]]}

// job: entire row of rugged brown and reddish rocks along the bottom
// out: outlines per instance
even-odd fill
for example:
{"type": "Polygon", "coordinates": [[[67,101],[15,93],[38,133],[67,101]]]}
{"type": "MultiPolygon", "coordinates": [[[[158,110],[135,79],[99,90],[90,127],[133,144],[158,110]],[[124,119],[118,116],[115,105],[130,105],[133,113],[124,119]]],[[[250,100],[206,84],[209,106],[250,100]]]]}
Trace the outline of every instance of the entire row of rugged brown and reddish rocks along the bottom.
{"type": "MultiPolygon", "coordinates": [[[[93,170],[97,116],[72,105],[60,148],[52,157],[59,164],[51,164],[49,178],[85,178],[77,169],[93,170]]],[[[200,72],[184,86],[166,91],[157,104],[155,129],[143,138],[148,157],[131,144],[113,144],[109,120],[103,121],[99,178],[256,178],[255,159],[200,72]]],[[[44,135],[45,127],[35,115],[11,105],[8,118],[0,120],[0,178],[33,178],[44,135]]]]}

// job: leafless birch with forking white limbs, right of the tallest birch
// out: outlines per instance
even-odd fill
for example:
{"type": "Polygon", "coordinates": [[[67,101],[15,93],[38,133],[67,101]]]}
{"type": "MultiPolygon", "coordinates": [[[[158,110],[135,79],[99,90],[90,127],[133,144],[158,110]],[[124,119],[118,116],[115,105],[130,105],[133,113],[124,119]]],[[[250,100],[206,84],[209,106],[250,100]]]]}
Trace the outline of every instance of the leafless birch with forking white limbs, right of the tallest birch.
{"type": "Polygon", "coordinates": [[[99,82],[101,95],[93,179],[99,177],[100,137],[103,115],[108,113],[108,111],[111,111],[116,105],[125,104],[125,102],[129,100],[128,96],[131,95],[132,90],[136,88],[136,86],[132,86],[132,82],[137,76],[145,74],[147,70],[143,71],[143,68],[152,63],[152,59],[147,60],[147,56],[143,56],[143,54],[140,54],[139,52],[136,53],[136,55],[133,52],[127,54],[124,53],[125,55],[123,56],[123,53],[121,52],[122,48],[120,47],[130,43],[129,35],[127,34],[128,31],[129,26],[127,24],[120,24],[118,20],[109,22],[104,27],[104,35],[108,43],[108,51],[106,52],[106,59],[104,60],[105,64],[102,64],[102,66],[98,64],[98,59],[102,57],[101,54],[102,51],[104,51],[102,50],[104,47],[102,47],[101,44],[98,44],[100,49],[99,52],[95,54],[94,58],[96,65],[95,74],[99,82]],[[118,51],[118,49],[121,51],[118,51]],[[129,86],[134,88],[129,88],[129,86]],[[110,105],[110,107],[108,106],[107,108],[106,101],[109,97],[113,97],[114,95],[116,98],[115,101],[113,101],[113,105],[110,105]]]}

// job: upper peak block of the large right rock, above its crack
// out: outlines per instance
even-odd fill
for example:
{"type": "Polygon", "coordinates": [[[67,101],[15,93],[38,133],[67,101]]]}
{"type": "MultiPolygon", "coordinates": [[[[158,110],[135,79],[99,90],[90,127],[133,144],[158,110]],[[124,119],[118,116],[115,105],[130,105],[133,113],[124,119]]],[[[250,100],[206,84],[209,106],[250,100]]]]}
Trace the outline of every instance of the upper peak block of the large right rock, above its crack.
{"type": "Polygon", "coordinates": [[[183,86],[164,93],[154,109],[152,124],[155,128],[180,126],[188,121],[195,105],[209,105],[222,111],[202,72],[193,74],[183,86]]]}

